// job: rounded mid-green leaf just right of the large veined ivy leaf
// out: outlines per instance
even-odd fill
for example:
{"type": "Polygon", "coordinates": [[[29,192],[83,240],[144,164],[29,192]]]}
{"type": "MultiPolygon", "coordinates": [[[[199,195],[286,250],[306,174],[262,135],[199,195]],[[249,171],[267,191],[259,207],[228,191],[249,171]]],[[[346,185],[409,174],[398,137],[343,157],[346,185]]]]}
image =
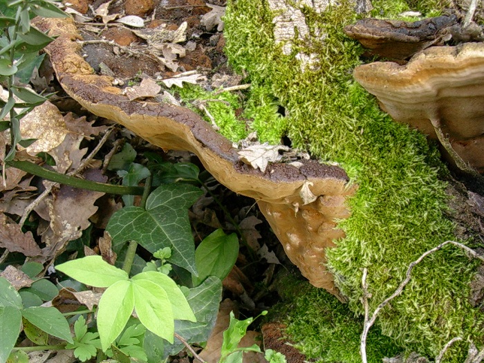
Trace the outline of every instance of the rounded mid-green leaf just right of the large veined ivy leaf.
{"type": "Polygon", "coordinates": [[[235,233],[227,235],[218,229],[206,236],[195,251],[198,277],[192,277],[194,286],[209,276],[225,279],[238,255],[239,238],[235,233]]]}

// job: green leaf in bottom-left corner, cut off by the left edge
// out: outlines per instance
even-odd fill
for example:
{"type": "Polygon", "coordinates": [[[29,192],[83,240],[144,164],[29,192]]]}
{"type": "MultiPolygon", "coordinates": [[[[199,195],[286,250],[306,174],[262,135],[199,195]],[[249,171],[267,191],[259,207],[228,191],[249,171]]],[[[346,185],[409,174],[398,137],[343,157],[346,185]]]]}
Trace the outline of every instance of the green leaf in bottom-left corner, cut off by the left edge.
{"type": "Polygon", "coordinates": [[[6,362],[10,351],[15,346],[20,334],[21,322],[22,315],[18,308],[15,306],[0,307],[0,363],[6,362]]]}

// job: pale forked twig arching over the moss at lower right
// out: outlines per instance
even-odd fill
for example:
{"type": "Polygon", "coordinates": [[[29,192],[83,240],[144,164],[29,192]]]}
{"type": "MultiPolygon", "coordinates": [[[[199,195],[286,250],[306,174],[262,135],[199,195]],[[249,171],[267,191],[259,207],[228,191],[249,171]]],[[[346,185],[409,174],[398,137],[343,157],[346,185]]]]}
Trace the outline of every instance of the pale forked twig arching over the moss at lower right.
{"type": "MultiPolygon", "coordinates": [[[[371,326],[373,326],[373,324],[375,323],[375,319],[377,318],[378,313],[380,313],[380,310],[382,310],[382,308],[387,306],[387,304],[391,300],[395,299],[395,297],[398,297],[398,295],[400,295],[402,293],[404,287],[407,286],[407,284],[410,282],[412,269],[418,263],[420,263],[423,259],[425,259],[425,257],[427,257],[429,254],[432,254],[432,253],[440,250],[441,248],[443,248],[445,245],[448,245],[448,244],[456,245],[458,248],[465,250],[465,252],[472,254],[472,257],[475,257],[476,259],[480,259],[481,261],[484,261],[483,256],[478,254],[476,251],[472,250],[472,248],[467,247],[467,245],[463,245],[462,243],[458,243],[456,241],[445,241],[443,243],[440,243],[440,245],[432,248],[431,250],[424,252],[420,257],[418,257],[418,259],[416,259],[415,261],[413,261],[409,264],[409,267],[407,268],[406,278],[400,283],[400,285],[398,286],[398,288],[396,288],[396,290],[393,292],[393,294],[391,294],[389,297],[387,297],[387,299],[384,299],[384,301],[382,301],[382,303],[380,305],[378,305],[377,308],[375,308],[375,311],[373,311],[373,314],[371,315],[370,319],[368,319],[368,315],[366,313],[366,309],[368,309],[367,299],[368,299],[369,295],[368,295],[368,291],[366,290],[367,289],[367,287],[366,287],[366,268],[364,268],[363,277],[362,277],[362,288],[363,288],[363,295],[364,296],[362,297],[362,301],[363,301],[364,305],[365,305],[365,301],[366,301],[366,306],[364,306],[364,308],[365,308],[364,326],[363,326],[363,332],[362,332],[361,339],[360,339],[360,353],[362,355],[362,362],[363,363],[366,363],[366,337],[368,335],[368,332],[369,332],[371,326]]],[[[483,356],[484,356],[484,352],[483,352],[483,356]]]]}

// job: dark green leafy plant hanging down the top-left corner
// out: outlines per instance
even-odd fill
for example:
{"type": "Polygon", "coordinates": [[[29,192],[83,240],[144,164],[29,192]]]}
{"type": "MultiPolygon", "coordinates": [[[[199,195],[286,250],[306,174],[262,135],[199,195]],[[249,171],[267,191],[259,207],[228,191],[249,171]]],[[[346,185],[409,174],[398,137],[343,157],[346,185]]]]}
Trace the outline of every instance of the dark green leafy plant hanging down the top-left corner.
{"type": "Polygon", "coordinates": [[[0,100],[0,121],[8,121],[11,145],[4,161],[12,160],[17,144],[25,141],[20,134],[21,118],[46,100],[46,97],[18,84],[15,77],[18,74],[17,79],[26,82],[28,70],[38,66],[44,57],[38,55],[39,50],[54,40],[30,26],[31,15],[66,16],[49,0],[8,0],[0,3],[0,82],[5,83],[8,89],[7,102],[0,100]],[[15,96],[20,102],[15,100],[15,96]],[[24,110],[17,111],[14,107],[24,110]]]}

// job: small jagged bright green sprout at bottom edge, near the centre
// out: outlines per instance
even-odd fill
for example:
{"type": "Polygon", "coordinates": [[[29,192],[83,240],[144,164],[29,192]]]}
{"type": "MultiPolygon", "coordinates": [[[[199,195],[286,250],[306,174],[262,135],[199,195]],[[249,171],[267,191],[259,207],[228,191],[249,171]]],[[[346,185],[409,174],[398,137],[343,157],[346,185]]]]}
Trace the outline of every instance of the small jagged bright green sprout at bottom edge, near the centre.
{"type": "MultiPolygon", "coordinates": [[[[267,311],[263,311],[261,315],[266,315],[267,311]]],[[[259,315],[259,316],[261,316],[259,315]]],[[[245,348],[238,348],[241,339],[247,333],[247,328],[252,324],[257,317],[249,317],[245,320],[236,319],[234,312],[230,312],[230,323],[227,330],[223,332],[223,342],[221,349],[221,357],[218,363],[242,363],[244,352],[261,352],[261,348],[257,344],[245,348]]]]}

